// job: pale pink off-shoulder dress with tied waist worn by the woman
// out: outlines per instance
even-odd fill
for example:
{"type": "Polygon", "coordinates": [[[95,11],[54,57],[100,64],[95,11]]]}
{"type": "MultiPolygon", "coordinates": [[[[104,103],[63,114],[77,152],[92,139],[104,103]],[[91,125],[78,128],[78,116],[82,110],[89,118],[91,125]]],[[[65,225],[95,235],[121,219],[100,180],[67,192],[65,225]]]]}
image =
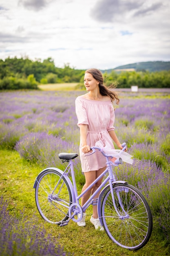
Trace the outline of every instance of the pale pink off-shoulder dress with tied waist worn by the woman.
{"type": "MultiPolygon", "coordinates": [[[[110,130],[115,130],[115,127],[113,127],[115,111],[111,100],[94,101],[79,96],[75,100],[75,110],[78,119],[77,125],[86,124],[88,126],[87,145],[95,146],[97,141],[102,140],[104,146],[107,141],[107,145],[114,149],[112,138],[108,133],[110,130]]],[[[79,154],[83,172],[98,171],[106,166],[106,158],[100,152],[92,155],[82,152],[81,140],[79,154]]]]}

